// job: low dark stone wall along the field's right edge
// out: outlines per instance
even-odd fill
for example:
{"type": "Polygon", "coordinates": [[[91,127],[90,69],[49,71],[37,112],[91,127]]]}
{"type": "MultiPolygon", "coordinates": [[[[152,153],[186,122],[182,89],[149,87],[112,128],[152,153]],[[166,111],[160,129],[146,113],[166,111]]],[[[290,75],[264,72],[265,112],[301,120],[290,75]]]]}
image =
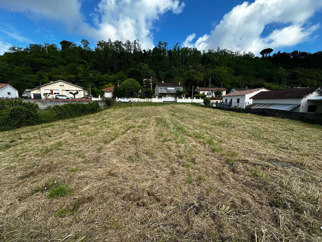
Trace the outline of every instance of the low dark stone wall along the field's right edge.
{"type": "Polygon", "coordinates": [[[310,124],[322,125],[322,113],[305,113],[305,112],[290,112],[283,110],[269,110],[269,109],[255,109],[255,108],[234,108],[234,107],[216,107],[215,109],[221,109],[226,111],[233,111],[239,113],[258,114],[261,116],[273,116],[280,118],[294,119],[310,124]]]}

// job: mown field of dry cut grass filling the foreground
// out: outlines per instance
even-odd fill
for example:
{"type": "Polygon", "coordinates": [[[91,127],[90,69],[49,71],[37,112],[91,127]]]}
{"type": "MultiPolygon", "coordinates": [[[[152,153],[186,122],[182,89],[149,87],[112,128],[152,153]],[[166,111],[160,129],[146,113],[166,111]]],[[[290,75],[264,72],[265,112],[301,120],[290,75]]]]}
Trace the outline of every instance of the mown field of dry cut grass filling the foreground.
{"type": "Polygon", "coordinates": [[[322,241],[322,128],[121,104],[2,132],[0,241],[322,241]]]}

